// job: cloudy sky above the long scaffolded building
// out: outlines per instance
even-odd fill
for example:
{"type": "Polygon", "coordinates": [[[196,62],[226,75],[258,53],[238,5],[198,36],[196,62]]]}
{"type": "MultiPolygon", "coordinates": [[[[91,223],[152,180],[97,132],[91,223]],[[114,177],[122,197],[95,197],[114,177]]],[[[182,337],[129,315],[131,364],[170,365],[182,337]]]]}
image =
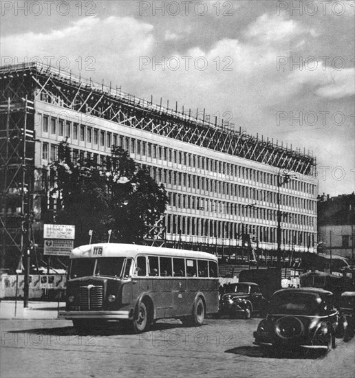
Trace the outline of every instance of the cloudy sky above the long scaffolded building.
{"type": "Polygon", "coordinates": [[[1,65],[37,60],[317,162],[355,190],[355,1],[1,1],[1,65]],[[233,124],[233,125],[232,125],[233,124]]]}

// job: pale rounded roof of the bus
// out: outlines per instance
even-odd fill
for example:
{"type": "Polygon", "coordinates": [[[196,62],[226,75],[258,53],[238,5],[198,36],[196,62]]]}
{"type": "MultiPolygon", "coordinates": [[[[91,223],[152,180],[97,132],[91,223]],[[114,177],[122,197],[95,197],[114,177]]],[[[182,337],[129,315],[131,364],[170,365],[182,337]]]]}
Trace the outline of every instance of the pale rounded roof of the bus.
{"type": "Polygon", "coordinates": [[[119,244],[119,243],[97,243],[81,245],[70,253],[70,258],[96,258],[96,257],[131,257],[138,254],[150,254],[155,256],[171,256],[186,258],[205,258],[217,261],[217,256],[206,252],[188,251],[185,249],[173,249],[164,247],[149,247],[147,245],[119,244]],[[100,253],[95,253],[94,248],[100,248],[100,253]]]}

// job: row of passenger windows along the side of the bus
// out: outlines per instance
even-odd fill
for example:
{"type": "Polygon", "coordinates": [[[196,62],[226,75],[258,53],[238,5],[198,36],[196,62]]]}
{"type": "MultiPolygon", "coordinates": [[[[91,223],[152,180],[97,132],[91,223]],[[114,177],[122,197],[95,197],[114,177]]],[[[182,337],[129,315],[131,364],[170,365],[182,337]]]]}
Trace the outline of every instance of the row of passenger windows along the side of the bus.
{"type": "Polygon", "coordinates": [[[136,276],[151,277],[217,277],[217,263],[195,258],[138,256],[136,276]]]}

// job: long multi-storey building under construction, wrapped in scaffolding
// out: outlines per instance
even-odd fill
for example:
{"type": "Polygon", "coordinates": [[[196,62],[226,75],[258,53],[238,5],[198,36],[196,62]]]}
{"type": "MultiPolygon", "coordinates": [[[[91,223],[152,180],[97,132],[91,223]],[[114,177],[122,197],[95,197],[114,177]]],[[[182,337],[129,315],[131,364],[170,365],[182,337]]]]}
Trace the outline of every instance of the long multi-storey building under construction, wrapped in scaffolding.
{"type": "Polygon", "coordinates": [[[270,253],[279,241],[286,254],[314,252],[309,153],[39,63],[1,67],[0,88],[3,267],[14,269],[34,243],[29,227],[56,210],[47,167],[65,137],[74,162],[104,164],[111,146],[122,146],[164,184],[170,203],[147,243],[228,256],[247,244],[270,253]]]}

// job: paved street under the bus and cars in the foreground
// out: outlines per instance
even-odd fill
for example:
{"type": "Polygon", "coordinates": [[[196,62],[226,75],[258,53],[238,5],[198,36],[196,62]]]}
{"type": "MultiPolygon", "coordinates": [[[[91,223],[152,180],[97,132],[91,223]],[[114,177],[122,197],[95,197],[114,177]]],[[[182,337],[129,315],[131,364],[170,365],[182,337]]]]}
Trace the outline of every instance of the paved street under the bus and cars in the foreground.
{"type": "Polygon", "coordinates": [[[117,326],[78,335],[67,320],[2,320],[1,377],[355,377],[355,340],[325,356],[264,357],[259,318],[157,322],[134,335],[117,326]]]}

